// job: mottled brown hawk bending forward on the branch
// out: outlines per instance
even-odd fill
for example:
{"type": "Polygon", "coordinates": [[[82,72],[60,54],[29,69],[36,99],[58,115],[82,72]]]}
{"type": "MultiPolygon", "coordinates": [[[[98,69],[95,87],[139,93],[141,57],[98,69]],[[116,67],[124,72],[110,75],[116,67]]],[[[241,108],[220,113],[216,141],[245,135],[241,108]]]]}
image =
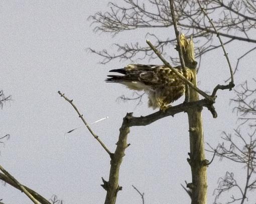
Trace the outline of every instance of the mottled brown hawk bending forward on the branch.
{"type": "MultiPolygon", "coordinates": [[[[174,67],[183,75],[181,66],[174,67]]],[[[149,107],[165,110],[169,103],[185,92],[184,81],[165,65],[129,64],[124,68],[112,69],[123,75],[107,75],[106,82],[121,83],[133,90],[144,90],[149,96],[149,107]]],[[[193,80],[193,72],[186,68],[186,77],[193,80]]]]}

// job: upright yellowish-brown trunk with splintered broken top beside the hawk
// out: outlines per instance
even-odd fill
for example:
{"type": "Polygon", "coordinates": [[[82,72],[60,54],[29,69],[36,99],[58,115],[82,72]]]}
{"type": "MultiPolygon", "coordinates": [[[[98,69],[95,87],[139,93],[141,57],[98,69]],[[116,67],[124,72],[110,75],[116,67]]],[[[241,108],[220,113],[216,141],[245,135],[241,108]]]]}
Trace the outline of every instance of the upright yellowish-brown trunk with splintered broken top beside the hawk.
{"type": "MultiPolygon", "coordinates": [[[[187,40],[186,38],[182,39],[182,37],[185,64],[192,69],[194,74],[192,82],[197,85],[193,41],[192,38],[187,40]]],[[[190,87],[189,101],[197,100],[199,100],[198,92],[190,87]]],[[[188,162],[192,174],[192,183],[188,183],[187,187],[190,188],[191,192],[191,204],[205,204],[207,200],[207,160],[205,160],[204,155],[202,107],[191,107],[187,110],[187,114],[190,141],[190,158],[188,158],[188,162]]]]}

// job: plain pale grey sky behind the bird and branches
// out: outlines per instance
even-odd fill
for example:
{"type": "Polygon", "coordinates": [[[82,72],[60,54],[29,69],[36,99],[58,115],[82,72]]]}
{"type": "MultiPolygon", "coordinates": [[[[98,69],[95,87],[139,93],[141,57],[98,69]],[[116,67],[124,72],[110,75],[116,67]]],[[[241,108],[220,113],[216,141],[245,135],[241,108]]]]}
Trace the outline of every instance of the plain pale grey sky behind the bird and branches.
{"type": "MultiPolygon", "coordinates": [[[[116,41],[145,42],[145,30],[121,33],[115,38],[105,33],[93,33],[89,15],[106,10],[108,0],[99,3],[85,0],[12,0],[2,1],[1,17],[1,89],[13,100],[1,111],[0,135],[11,134],[1,145],[1,165],[20,182],[46,198],[58,195],[64,203],[103,203],[105,190],[101,176],[108,179],[109,157],[83,126],[74,109],[61,98],[61,90],[92,123],[91,128],[114,151],[122,117],[126,112],[146,115],[147,98],[136,106],[135,101],[117,102],[122,94],[132,91],[120,84],[106,84],[109,69],[123,67],[130,61],[99,64],[101,58],[88,53],[87,48],[102,49],[116,41]],[[139,32],[139,34],[138,34],[139,32]],[[64,139],[64,133],[80,127],[64,139]]],[[[156,30],[168,36],[172,28],[156,30]]],[[[145,42],[146,43],[146,42],[145,42]]],[[[249,44],[227,46],[232,65],[249,44]],[[239,50],[237,51],[237,47],[239,50]]],[[[113,49],[114,50],[114,49],[113,49]]],[[[168,51],[168,50],[167,50],[168,51]]],[[[175,53],[171,47],[171,53],[175,53]]],[[[176,53],[175,53],[176,54],[176,53]]],[[[248,58],[250,58],[248,56],[248,58]]],[[[253,59],[254,60],[254,59],[253,59]]],[[[243,60],[236,83],[251,78],[253,60],[243,60]]],[[[148,60],[137,61],[148,63],[148,60]]],[[[150,63],[160,63],[155,59],[150,63]]],[[[221,50],[206,54],[198,78],[203,90],[212,90],[223,83],[228,68],[221,50]]],[[[215,105],[218,117],[213,119],[203,110],[205,141],[215,146],[223,130],[231,132],[236,122],[229,98],[233,92],[219,91],[215,105]]],[[[182,102],[183,98],[178,102],[182,102]]],[[[175,104],[178,104],[175,103],[175,104]]],[[[191,181],[187,116],[184,113],[167,117],[144,127],[132,127],[128,141],[131,146],[120,169],[117,203],[142,203],[132,184],[145,192],[146,203],[185,203],[189,197],[180,183],[191,181]],[[180,195],[182,195],[180,197],[180,195]],[[184,195],[184,196],[183,196],[184,195]]],[[[211,155],[207,154],[210,160],[211,155]]],[[[215,159],[208,168],[208,202],[218,177],[226,170],[243,171],[215,159]]],[[[6,204],[31,203],[24,193],[9,185],[0,185],[0,198],[6,204]]]]}

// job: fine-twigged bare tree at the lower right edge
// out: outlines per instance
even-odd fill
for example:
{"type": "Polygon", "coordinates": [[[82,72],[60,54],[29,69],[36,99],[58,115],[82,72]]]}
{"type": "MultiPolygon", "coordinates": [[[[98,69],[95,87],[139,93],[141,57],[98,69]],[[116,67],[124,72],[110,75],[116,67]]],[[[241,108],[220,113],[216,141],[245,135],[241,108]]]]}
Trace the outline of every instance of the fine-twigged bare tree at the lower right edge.
{"type": "MultiPolygon", "coordinates": [[[[255,87],[255,84],[253,86],[255,87]]],[[[210,151],[216,152],[220,159],[228,159],[236,163],[235,166],[244,167],[245,172],[235,175],[227,171],[224,177],[220,177],[218,187],[214,191],[214,203],[219,203],[218,200],[227,194],[230,195],[227,203],[242,204],[248,202],[249,197],[252,201],[255,198],[253,190],[256,188],[256,89],[249,88],[248,82],[245,81],[235,92],[236,97],[231,101],[238,115],[238,127],[233,133],[223,132],[224,141],[215,149],[210,146],[210,151]],[[241,178],[244,179],[243,182],[241,178]]]]}

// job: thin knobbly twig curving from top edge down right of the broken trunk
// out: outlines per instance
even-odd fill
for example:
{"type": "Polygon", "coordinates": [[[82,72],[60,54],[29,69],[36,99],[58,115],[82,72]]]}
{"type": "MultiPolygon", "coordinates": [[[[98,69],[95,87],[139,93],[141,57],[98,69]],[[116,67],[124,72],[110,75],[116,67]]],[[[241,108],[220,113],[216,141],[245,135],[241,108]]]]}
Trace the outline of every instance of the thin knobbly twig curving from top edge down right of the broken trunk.
{"type": "MultiPolygon", "coordinates": [[[[231,81],[230,81],[229,84],[228,84],[228,85],[229,85],[228,88],[229,88],[229,90],[231,90],[231,89],[234,87],[234,78],[233,78],[233,71],[232,71],[231,63],[230,63],[230,61],[229,61],[227,52],[226,52],[225,47],[224,47],[224,45],[223,45],[223,42],[222,42],[222,40],[221,40],[221,38],[220,38],[220,34],[219,34],[219,32],[217,31],[217,29],[216,29],[214,23],[212,22],[212,19],[208,16],[207,12],[205,11],[204,7],[201,5],[200,1],[197,0],[197,2],[198,2],[198,4],[199,4],[199,6],[200,6],[202,12],[204,13],[204,15],[208,18],[209,22],[211,23],[211,25],[212,25],[212,27],[213,27],[215,33],[217,34],[217,37],[218,37],[219,42],[220,42],[220,44],[221,44],[221,47],[222,47],[222,49],[223,49],[224,55],[225,55],[226,60],[227,60],[227,63],[228,63],[229,72],[230,72],[230,78],[231,78],[231,81]]],[[[216,87],[217,87],[217,86],[216,86],[216,87]]],[[[219,86],[219,87],[220,87],[220,86],[219,86]]],[[[222,86],[222,87],[223,87],[223,86],[222,86]]],[[[214,89],[215,89],[215,88],[214,88],[214,89]]],[[[219,89],[221,89],[221,88],[219,88],[219,89]]],[[[225,88],[225,89],[226,89],[226,88],[225,88]]],[[[215,94],[216,94],[216,91],[214,91],[214,92],[215,92],[215,94]]],[[[213,93],[214,93],[214,92],[213,92],[213,93]]]]}

